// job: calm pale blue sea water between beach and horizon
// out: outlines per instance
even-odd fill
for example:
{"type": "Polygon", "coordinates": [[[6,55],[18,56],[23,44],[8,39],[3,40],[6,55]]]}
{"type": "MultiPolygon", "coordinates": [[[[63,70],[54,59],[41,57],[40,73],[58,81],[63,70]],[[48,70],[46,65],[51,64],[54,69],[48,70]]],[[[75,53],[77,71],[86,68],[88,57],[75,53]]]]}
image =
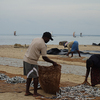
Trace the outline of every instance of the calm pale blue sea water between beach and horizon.
{"type": "MultiPolygon", "coordinates": [[[[29,45],[34,38],[41,37],[42,34],[30,34],[30,35],[0,35],[0,45],[14,45],[17,44],[26,44],[29,45]]],[[[100,35],[83,35],[82,37],[66,34],[54,34],[53,41],[49,41],[48,44],[58,45],[60,41],[78,41],[79,45],[92,45],[92,43],[100,43],[100,35]]]]}

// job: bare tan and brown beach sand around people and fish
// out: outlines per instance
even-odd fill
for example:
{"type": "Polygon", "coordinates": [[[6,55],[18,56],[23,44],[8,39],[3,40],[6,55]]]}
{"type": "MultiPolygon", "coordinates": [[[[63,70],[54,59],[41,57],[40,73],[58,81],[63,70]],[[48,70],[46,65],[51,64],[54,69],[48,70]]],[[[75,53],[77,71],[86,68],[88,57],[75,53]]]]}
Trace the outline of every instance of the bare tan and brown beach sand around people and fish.
{"type": "MultiPolygon", "coordinates": [[[[51,48],[58,48],[64,49],[61,45],[47,45],[47,50],[51,48]]],[[[0,57],[5,58],[14,58],[23,60],[24,54],[26,52],[26,47],[14,48],[14,45],[0,45],[0,57]]],[[[80,51],[100,51],[100,46],[93,46],[93,45],[79,45],[80,51]]],[[[85,69],[86,67],[86,59],[88,57],[78,57],[78,55],[74,55],[74,57],[66,57],[65,55],[49,55],[47,56],[57,62],[58,64],[70,65],[70,66],[81,66],[85,69]],[[83,60],[84,59],[84,60],[83,60]]],[[[7,61],[7,60],[5,60],[7,61]]],[[[42,57],[39,58],[39,61],[43,61],[42,57]]],[[[10,61],[8,61],[11,63],[10,61]]],[[[19,63],[15,63],[18,64],[19,63]]],[[[41,63],[40,63],[41,64],[41,63]]],[[[49,64],[47,64],[49,66],[49,64]]],[[[67,67],[64,67],[67,70],[67,67]]],[[[65,69],[64,69],[65,70],[65,69]]],[[[69,69],[68,69],[69,70],[69,69]]],[[[85,71],[85,70],[84,70],[85,71]]],[[[23,75],[23,67],[22,65],[18,67],[14,67],[11,65],[3,65],[0,64],[0,73],[4,73],[9,77],[14,76],[21,76],[26,79],[26,76],[23,75]]],[[[85,72],[81,74],[74,74],[71,72],[64,72],[62,70],[61,79],[60,79],[60,87],[67,87],[67,86],[75,86],[78,84],[83,83],[85,79],[85,72]]],[[[90,77],[88,78],[90,82],[90,77]]],[[[96,87],[100,87],[100,85],[96,85],[96,87]]],[[[33,88],[30,89],[33,92],[33,88]]],[[[45,93],[42,89],[38,90],[38,93],[44,95],[45,97],[51,97],[52,94],[45,93]]],[[[33,96],[24,96],[25,94],[25,83],[22,84],[8,84],[5,83],[4,80],[0,80],[0,100],[40,100],[39,98],[35,98],[33,96]]],[[[100,97],[96,98],[95,100],[99,100],[100,97]]]]}

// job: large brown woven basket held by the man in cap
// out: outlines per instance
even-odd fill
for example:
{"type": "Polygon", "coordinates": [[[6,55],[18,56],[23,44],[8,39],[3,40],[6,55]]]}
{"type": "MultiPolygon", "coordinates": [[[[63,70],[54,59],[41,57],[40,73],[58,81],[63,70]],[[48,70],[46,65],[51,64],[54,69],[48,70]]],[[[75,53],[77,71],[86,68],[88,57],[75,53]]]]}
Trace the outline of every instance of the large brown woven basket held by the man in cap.
{"type": "Polygon", "coordinates": [[[39,66],[39,82],[46,93],[56,94],[59,91],[61,65],[39,66]]]}

